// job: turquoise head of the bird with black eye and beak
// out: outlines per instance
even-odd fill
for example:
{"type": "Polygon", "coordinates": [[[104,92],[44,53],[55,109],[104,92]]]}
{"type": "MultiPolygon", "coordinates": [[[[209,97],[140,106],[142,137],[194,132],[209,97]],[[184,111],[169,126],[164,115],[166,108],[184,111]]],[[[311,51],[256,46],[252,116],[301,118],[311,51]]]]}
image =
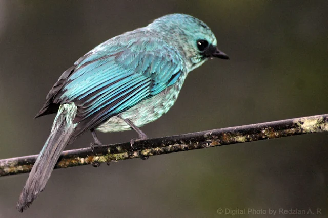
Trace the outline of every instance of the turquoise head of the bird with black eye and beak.
{"type": "Polygon", "coordinates": [[[201,20],[186,14],[169,14],[153,21],[150,27],[185,56],[189,71],[212,57],[229,59],[217,48],[211,29],[201,20]]]}

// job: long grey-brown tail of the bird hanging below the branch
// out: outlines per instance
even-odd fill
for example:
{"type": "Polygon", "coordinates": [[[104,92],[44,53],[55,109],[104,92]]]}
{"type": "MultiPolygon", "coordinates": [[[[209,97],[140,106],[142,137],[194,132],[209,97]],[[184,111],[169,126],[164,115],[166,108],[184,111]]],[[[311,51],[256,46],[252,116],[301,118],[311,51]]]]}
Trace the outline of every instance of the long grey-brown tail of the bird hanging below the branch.
{"type": "Polygon", "coordinates": [[[77,107],[72,104],[63,104],[59,107],[57,116],[52,125],[51,133],[37,157],[29,178],[20,194],[17,209],[23,212],[32,204],[40,192],[45,188],[51,172],[77,124],[73,123],[77,107]]]}

